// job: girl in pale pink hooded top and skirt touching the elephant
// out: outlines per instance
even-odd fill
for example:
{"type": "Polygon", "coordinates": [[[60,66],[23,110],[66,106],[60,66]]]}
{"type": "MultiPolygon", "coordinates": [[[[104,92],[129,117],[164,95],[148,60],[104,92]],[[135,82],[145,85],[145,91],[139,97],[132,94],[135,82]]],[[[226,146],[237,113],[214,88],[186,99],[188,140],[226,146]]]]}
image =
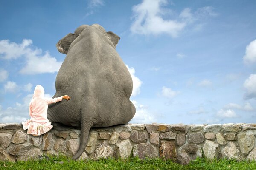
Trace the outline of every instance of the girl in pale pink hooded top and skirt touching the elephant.
{"type": "Polygon", "coordinates": [[[70,96],[52,98],[44,97],[44,88],[41,85],[35,87],[33,99],[29,103],[29,115],[31,118],[26,122],[21,122],[23,129],[28,129],[27,133],[33,136],[40,136],[51,130],[53,127],[47,119],[47,108],[51,103],[60,102],[62,99],[70,100],[70,96]]]}

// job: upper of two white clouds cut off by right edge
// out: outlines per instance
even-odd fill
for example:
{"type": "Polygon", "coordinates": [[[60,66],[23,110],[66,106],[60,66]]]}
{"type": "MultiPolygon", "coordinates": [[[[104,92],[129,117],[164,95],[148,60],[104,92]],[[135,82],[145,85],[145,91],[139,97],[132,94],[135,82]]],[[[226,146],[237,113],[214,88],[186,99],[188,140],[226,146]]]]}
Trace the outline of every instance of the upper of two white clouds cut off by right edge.
{"type": "Polygon", "coordinates": [[[245,55],[243,59],[244,63],[247,65],[256,62],[256,40],[253,40],[252,42],[250,42],[249,45],[246,46],[245,55]]]}

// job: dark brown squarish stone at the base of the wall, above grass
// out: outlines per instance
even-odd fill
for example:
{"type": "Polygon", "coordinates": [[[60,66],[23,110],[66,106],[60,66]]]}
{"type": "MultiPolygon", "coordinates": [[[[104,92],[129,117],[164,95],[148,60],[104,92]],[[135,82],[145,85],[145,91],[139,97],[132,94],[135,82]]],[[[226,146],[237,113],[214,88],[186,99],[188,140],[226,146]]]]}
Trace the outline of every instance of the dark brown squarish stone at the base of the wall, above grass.
{"type": "Polygon", "coordinates": [[[161,141],[159,147],[159,155],[161,158],[172,159],[172,161],[177,161],[175,141],[161,141]]]}

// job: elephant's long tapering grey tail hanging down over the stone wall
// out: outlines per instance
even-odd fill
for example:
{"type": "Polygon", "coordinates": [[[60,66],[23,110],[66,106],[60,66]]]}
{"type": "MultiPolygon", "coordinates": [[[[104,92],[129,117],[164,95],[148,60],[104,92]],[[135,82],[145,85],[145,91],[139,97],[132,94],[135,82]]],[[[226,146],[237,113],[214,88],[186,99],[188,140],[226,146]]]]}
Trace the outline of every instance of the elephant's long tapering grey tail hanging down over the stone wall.
{"type": "Polygon", "coordinates": [[[81,154],[84,152],[84,149],[86,147],[88,137],[89,137],[89,130],[93,126],[93,119],[90,117],[82,116],[85,115],[81,113],[81,136],[80,136],[80,146],[77,153],[72,157],[72,159],[76,160],[81,156],[81,154]]]}

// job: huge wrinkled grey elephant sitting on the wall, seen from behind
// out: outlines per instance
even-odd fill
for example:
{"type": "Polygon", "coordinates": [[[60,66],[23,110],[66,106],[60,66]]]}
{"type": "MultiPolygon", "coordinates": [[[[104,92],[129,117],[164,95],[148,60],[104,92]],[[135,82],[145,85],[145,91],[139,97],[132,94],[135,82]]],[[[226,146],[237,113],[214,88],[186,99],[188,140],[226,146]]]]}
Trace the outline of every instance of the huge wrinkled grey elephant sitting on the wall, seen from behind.
{"type": "Polygon", "coordinates": [[[49,105],[50,122],[81,127],[81,142],[73,159],[83,153],[91,127],[126,124],[134,114],[130,101],[131,75],[116,52],[118,37],[98,25],[82,25],[57,43],[58,51],[67,54],[56,77],[56,93],[69,95],[49,105]]]}

